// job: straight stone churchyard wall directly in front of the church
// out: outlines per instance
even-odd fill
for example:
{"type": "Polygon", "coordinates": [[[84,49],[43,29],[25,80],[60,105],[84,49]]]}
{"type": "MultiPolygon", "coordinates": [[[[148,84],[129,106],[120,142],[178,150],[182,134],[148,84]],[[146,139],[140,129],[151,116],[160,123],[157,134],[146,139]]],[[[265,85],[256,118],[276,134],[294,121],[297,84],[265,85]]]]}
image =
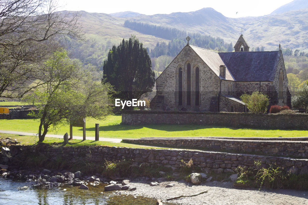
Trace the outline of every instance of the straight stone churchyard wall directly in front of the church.
{"type": "Polygon", "coordinates": [[[197,124],[225,127],[251,127],[264,129],[308,129],[307,114],[254,114],[223,112],[182,111],[123,111],[122,123],[126,125],[147,124],[197,124]]]}

